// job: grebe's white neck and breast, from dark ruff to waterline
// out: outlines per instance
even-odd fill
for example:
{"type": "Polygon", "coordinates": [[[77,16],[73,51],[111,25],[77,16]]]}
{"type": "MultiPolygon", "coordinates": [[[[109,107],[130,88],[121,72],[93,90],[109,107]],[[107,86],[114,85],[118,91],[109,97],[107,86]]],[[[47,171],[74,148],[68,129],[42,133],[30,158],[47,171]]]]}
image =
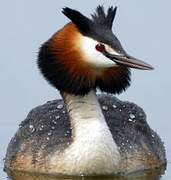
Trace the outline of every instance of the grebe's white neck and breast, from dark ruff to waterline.
{"type": "Polygon", "coordinates": [[[61,167],[72,174],[112,174],[120,154],[107,126],[95,92],[86,96],[66,95],[73,143],[62,156],[61,167]]]}

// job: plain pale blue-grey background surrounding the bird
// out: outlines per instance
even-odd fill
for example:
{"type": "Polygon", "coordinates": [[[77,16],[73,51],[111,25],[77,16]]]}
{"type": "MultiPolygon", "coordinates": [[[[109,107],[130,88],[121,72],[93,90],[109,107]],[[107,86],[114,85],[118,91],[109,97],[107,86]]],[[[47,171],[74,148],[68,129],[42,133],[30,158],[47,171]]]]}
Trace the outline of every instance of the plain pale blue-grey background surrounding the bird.
{"type": "Polygon", "coordinates": [[[1,167],[7,144],[21,120],[33,107],[59,97],[39,74],[36,59],[41,43],[68,22],[62,7],[89,15],[98,4],[118,6],[115,34],[129,54],[155,67],[150,72],[133,70],[132,86],[119,98],[144,108],[171,157],[171,1],[0,0],[1,167]]]}

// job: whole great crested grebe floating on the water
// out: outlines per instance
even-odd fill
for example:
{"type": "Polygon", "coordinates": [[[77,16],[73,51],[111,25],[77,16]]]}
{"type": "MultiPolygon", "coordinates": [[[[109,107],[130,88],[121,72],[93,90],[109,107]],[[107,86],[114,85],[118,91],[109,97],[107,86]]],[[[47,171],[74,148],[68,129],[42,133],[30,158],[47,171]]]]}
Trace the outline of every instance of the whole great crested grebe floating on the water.
{"type": "Polygon", "coordinates": [[[71,20],[40,48],[38,66],[63,99],[33,109],[12,138],[5,169],[64,175],[109,175],[166,163],[165,149],[143,110],[119,94],[130,69],[153,69],[128,55],[112,32],[116,7],[71,20]]]}

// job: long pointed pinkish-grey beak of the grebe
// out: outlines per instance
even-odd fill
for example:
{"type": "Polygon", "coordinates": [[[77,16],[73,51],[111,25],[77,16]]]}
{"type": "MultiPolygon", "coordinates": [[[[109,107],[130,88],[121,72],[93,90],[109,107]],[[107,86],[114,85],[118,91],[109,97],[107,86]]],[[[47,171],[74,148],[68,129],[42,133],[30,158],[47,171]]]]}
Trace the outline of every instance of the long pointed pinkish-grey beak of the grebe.
{"type": "Polygon", "coordinates": [[[107,51],[103,53],[107,58],[111,59],[118,65],[127,66],[130,68],[141,69],[141,70],[152,70],[154,69],[150,64],[147,64],[139,59],[136,59],[129,55],[114,55],[107,51]]]}

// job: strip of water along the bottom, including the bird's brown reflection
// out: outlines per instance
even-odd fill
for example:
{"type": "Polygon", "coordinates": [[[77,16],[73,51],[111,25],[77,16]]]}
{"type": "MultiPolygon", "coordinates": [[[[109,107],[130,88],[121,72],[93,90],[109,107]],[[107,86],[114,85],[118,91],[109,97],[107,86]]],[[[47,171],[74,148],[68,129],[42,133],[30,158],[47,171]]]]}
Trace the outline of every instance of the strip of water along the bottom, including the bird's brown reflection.
{"type": "Polygon", "coordinates": [[[39,174],[28,174],[22,172],[8,173],[8,175],[3,172],[3,161],[0,164],[1,180],[170,180],[171,179],[171,163],[168,162],[167,170],[156,169],[153,171],[138,172],[135,174],[130,174],[127,177],[114,177],[114,176],[98,176],[98,177],[61,177],[55,175],[39,175],[39,174]]]}

